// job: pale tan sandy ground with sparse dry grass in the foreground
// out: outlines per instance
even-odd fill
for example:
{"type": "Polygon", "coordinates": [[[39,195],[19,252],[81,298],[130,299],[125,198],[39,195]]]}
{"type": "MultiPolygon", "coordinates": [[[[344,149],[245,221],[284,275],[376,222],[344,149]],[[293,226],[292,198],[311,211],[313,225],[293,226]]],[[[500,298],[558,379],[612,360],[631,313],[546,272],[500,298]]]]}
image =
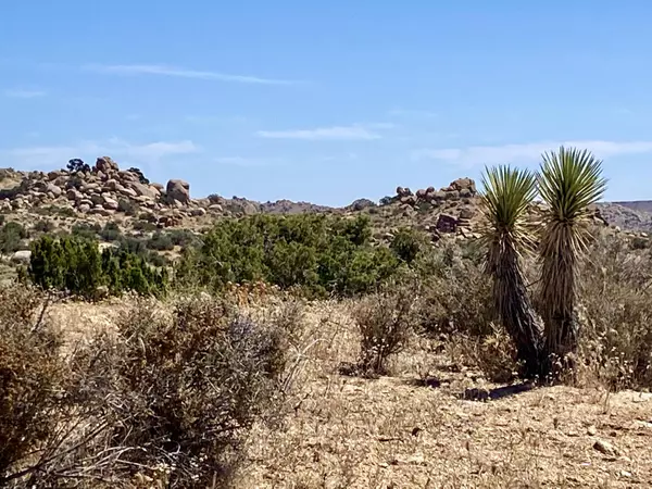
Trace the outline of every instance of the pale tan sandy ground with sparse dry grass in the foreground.
{"type": "MultiPolygon", "coordinates": [[[[51,314],[82,338],[111,327],[123,308],[55,304],[51,314]]],[[[255,427],[237,487],[652,487],[652,394],[552,387],[465,400],[468,388],[500,386],[454,372],[454,359],[426,340],[379,379],[338,373],[356,353],[346,304],[309,309],[290,352],[301,368],[287,417],[255,427]]]]}

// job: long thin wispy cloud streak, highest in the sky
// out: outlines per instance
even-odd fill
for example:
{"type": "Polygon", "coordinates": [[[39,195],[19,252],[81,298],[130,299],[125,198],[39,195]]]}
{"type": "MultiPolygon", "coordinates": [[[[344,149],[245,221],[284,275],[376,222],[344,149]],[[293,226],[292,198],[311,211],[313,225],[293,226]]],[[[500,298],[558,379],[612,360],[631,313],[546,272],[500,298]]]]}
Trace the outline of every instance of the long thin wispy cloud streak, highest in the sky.
{"type": "Polygon", "coordinates": [[[250,85],[297,85],[302,82],[291,79],[262,78],[259,76],[233,75],[220,72],[187,70],[161,64],[89,64],[84,70],[108,75],[154,75],[177,78],[195,78],[250,85]]]}

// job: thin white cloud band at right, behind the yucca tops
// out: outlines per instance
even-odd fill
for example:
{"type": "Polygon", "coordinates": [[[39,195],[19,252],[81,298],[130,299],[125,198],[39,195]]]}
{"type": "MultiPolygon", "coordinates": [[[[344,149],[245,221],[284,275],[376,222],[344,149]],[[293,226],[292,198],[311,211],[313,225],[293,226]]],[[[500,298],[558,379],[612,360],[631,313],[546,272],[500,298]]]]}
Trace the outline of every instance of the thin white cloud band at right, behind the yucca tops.
{"type": "Polygon", "coordinates": [[[413,160],[438,160],[460,166],[482,166],[501,163],[530,163],[546,151],[560,146],[586,148],[598,158],[652,152],[652,141],[570,140],[542,141],[523,145],[472,146],[467,148],[418,149],[413,160]]]}

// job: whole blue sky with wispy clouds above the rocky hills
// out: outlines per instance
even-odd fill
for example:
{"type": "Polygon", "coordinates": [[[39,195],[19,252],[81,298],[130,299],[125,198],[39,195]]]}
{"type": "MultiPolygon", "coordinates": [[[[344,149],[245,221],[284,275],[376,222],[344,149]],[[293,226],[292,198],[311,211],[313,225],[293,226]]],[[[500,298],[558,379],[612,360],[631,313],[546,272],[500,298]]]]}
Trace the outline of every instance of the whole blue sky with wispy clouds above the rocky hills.
{"type": "Polygon", "coordinates": [[[604,160],[652,198],[652,2],[8,0],[0,166],[113,156],[193,197],[347,204],[604,160]]]}

